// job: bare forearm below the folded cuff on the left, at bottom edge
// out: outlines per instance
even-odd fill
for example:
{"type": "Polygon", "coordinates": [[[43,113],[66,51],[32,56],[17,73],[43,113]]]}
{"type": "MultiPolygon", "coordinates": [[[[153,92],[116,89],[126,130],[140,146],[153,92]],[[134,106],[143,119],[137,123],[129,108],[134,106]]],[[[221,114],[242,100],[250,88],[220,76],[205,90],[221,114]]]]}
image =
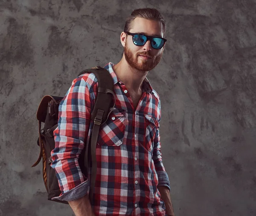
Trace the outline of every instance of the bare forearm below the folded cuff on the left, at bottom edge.
{"type": "Polygon", "coordinates": [[[76,216],[95,216],[88,195],[68,203],[76,216]]]}

